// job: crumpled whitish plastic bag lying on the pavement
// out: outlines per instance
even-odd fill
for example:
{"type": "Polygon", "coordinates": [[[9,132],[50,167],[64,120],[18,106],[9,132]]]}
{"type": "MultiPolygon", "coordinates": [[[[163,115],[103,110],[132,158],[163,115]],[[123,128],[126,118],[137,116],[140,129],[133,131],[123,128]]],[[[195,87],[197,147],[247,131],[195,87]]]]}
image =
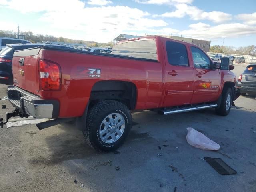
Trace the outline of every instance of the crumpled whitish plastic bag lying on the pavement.
{"type": "Polygon", "coordinates": [[[218,143],[210,140],[204,134],[198,132],[197,130],[194,130],[191,127],[188,127],[187,130],[188,134],[186,136],[186,140],[188,144],[190,144],[192,147],[214,151],[220,149],[220,145],[218,143]]]}

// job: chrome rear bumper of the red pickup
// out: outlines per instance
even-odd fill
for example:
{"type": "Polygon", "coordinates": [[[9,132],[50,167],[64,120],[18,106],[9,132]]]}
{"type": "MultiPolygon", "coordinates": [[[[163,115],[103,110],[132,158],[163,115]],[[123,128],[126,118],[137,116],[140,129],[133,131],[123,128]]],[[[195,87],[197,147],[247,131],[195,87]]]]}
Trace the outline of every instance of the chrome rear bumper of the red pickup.
{"type": "Polygon", "coordinates": [[[35,118],[58,118],[58,101],[41,99],[16,86],[8,86],[7,92],[11,104],[22,114],[35,118]]]}

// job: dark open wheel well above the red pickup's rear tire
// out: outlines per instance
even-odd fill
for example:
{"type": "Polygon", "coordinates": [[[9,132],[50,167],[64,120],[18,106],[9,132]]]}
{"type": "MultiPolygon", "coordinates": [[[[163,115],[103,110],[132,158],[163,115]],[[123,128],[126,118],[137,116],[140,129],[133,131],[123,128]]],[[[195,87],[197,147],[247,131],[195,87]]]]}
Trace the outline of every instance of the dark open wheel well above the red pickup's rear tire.
{"type": "MultiPolygon", "coordinates": [[[[133,110],[136,106],[137,89],[135,84],[126,81],[99,81],[94,84],[90,94],[90,106],[101,100],[116,100],[133,110]]],[[[89,106],[89,108],[90,108],[89,106]]]]}

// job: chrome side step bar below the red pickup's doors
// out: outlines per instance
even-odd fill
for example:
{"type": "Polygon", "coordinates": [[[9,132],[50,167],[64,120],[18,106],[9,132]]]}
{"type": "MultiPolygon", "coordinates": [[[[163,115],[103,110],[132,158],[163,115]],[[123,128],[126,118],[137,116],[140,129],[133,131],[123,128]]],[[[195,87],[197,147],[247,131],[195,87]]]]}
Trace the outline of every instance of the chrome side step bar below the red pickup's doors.
{"type": "Polygon", "coordinates": [[[195,111],[195,110],[200,110],[200,109],[207,109],[207,108],[214,108],[217,107],[217,104],[202,104],[202,105],[197,105],[197,106],[189,106],[189,107],[180,107],[180,108],[172,108],[168,110],[160,110],[158,111],[159,114],[161,115],[169,115],[169,114],[174,114],[174,113],[183,113],[183,112],[188,112],[188,111],[195,111]]]}

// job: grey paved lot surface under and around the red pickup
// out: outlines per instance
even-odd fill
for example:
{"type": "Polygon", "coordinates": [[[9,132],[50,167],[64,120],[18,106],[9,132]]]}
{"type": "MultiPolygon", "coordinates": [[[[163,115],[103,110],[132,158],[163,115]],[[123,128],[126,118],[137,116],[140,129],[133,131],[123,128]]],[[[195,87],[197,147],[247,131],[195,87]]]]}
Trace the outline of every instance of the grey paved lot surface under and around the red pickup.
{"type": "MultiPolygon", "coordinates": [[[[236,66],[234,72],[239,75],[243,70],[236,66]]],[[[0,84],[0,98],[6,96],[6,88],[0,84]]],[[[0,109],[0,116],[4,116],[12,106],[8,101],[0,102],[7,106],[0,109]]],[[[214,109],[169,116],[134,113],[138,124],[116,153],[89,148],[73,124],[42,131],[35,125],[2,128],[0,191],[255,192],[256,100],[240,96],[235,104],[226,117],[216,116],[214,109]],[[187,127],[220,144],[220,150],[190,146],[187,127]],[[237,174],[218,174],[200,159],[204,156],[222,158],[237,174]]]]}

